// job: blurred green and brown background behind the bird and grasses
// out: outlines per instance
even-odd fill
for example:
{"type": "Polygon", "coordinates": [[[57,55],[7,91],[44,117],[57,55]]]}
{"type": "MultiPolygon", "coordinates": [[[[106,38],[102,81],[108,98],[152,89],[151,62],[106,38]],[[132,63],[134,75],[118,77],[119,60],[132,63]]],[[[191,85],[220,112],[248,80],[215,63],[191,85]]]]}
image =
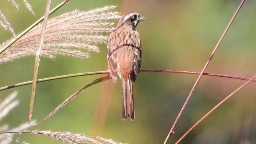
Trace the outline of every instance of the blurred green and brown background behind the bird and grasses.
{"type": "MultiPolygon", "coordinates": [[[[23,31],[45,12],[46,0],[28,0],[36,17],[18,1],[20,9],[2,0],[0,9],[16,33],[23,31]]],[[[53,0],[55,7],[61,0],[53,0]]],[[[142,42],[141,69],[201,71],[240,0],[70,0],[53,16],[74,9],[90,10],[106,5],[115,10],[138,12],[147,18],[137,30],[142,42]]],[[[231,25],[206,72],[253,77],[256,74],[256,1],[247,0],[231,25]]],[[[0,42],[12,35],[0,28],[0,42]]],[[[58,56],[41,58],[38,78],[106,70],[106,45],[89,59],[58,56]]],[[[34,56],[0,65],[0,86],[32,79],[34,56]]],[[[100,75],[38,83],[33,119],[41,120],[65,98],[100,75]]],[[[135,121],[121,120],[121,83],[100,83],[86,89],[54,116],[30,129],[69,131],[100,135],[130,144],[161,144],[170,131],[186,96],[198,76],[175,73],[140,73],[134,83],[135,121]],[[112,88],[113,86],[113,88],[112,88]],[[106,111],[106,118],[104,117],[106,111]]],[[[174,143],[197,120],[243,80],[203,76],[192,95],[169,143],[174,143]]],[[[182,144],[256,143],[256,83],[250,83],[198,125],[182,144]]],[[[20,104],[1,120],[16,127],[27,122],[31,85],[0,92],[0,99],[18,91],[20,104]]],[[[46,136],[15,135],[30,144],[61,144],[46,136]]],[[[16,142],[13,141],[13,144],[16,142]]]]}

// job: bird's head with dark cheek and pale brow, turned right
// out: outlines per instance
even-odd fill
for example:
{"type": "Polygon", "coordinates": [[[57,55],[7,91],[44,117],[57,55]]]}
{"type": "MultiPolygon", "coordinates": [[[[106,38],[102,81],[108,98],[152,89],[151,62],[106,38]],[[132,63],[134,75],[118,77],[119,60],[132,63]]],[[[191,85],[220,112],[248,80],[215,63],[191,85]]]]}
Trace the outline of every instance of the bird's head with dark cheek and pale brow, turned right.
{"type": "Polygon", "coordinates": [[[126,25],[129,28],[132,28],[133,30],[135,30],[138,23],[145,20],[146,18],[138,13],[127,13],[124,16],[122,16],[122,18],[120,19],[118,23],[118,27],[120,27],[121,25],[126,25]]]}

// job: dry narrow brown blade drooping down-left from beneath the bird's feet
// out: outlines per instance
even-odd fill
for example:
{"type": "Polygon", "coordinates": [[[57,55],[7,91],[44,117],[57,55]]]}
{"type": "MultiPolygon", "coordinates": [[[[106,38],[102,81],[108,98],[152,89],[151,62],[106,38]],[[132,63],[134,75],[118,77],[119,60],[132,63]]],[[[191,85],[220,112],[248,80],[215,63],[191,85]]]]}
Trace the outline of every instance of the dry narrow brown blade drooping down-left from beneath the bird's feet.
{"type": "Polygon", "coordinates": [[[109,80],[111,79],[111,77],[109,75],[101,77],[99,79],[96,79],[94,81],[92,81],[91,83],[89,83],[88,85],[84,86],[83,88],[79,89],[78,91],[76,91],[74,94],[72,94],[71,96],[69,96],[65,101],[63,101],[57,108],[55,108],[50,114],[48,114],[48,116],[46,116],[43,120],[41,120],[40,122],[36,123],[35,125],[38,125],[39,123],[42,123],[43,121],[45,121],[46,119],[48,119],[49,117],[51,117],[53,114],[55,114],[58,110],[60,110],[60,108],[64,107],[64,105],[66,105],[68,102],[70,102],[73,98],[75,98],[78,94],[80,94],[81,92],[83,92],[86,88],[95,85],[97,83],[100,82],[104,82],[105,80],[109,80]]]}

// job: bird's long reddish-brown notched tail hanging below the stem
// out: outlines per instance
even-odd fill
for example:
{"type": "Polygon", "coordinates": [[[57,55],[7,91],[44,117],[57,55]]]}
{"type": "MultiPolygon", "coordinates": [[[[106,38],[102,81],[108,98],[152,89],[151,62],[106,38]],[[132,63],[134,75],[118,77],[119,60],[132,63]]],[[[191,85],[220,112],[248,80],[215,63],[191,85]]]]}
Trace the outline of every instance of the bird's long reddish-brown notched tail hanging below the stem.
{"type": "Polygon", "coordinates": [[[123,106],[122,106],[122,119],[126,120],[127,117],[130,117],[131,120],[134,120],[134,102],[132,94],[132,81],[122,79],[122,97],[123,97],[123,106]]]}

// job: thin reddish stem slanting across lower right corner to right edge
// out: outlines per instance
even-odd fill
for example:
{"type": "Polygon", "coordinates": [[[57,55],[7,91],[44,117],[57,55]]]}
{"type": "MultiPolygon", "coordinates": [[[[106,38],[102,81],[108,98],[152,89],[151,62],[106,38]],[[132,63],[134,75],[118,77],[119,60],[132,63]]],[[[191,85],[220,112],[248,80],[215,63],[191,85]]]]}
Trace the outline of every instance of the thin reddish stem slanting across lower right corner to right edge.
{"type": "Polygon", "coordinates": [[[232,92],[226,98],[224,98],[221,102],[219,102],[215,107],[213,107],[207,114],[205,114],[200,120],[198,120],[198,122],[196,122],[195,125],[193,125],[175,144],[180,143],[180,141],[182,141],[183,138],[185,138],[186,135],[189,134],[189,132],[191,132],[199,123],[201,123],[202,120],[204,120],[207,116],[209,116],[209,114],[211,114],[214,110],[216,110],[216,108],[218,108],[220,105],[222,105],[228,98],[230,98],[232,95],[234,95],[237,91],[239,91],[241,88],[243,88],[245,85],[247,85],[253,79],[255,79],[255,77],[256,76],[254,76],[252,79],[248,80],[246,83],[244,83],[239,88],[237,88],[234,92],[232,92]]]}

